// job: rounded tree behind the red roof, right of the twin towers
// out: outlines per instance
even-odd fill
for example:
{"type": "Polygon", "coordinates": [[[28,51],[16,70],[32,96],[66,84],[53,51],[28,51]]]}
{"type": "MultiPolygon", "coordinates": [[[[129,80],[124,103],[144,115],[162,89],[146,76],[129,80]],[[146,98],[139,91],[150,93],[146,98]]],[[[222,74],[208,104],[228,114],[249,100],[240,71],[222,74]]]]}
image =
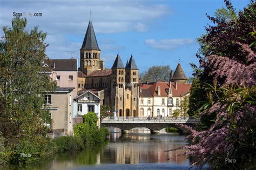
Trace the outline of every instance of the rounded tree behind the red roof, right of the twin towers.
{"type": "Polygon", "coordinates": [[[141,73],[139,78],[142,82],[146,81],[169,81],[171,68],[169,65],[151,66],[149,70],[141,73]]]}

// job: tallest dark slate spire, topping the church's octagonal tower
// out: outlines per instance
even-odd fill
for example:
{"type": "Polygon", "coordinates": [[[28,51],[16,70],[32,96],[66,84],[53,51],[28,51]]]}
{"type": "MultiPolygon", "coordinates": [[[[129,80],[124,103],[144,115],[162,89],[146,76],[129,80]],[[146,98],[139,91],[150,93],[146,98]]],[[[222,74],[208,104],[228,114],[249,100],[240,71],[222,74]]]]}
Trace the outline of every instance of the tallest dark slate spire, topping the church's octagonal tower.
{"type": "Polygon", "coordinates": [[[89,24],[85,33],[85,37],[84,37],[84,42],[80,50],[99,50],[100,51],[91,20],[89,21],[89,24]]]}

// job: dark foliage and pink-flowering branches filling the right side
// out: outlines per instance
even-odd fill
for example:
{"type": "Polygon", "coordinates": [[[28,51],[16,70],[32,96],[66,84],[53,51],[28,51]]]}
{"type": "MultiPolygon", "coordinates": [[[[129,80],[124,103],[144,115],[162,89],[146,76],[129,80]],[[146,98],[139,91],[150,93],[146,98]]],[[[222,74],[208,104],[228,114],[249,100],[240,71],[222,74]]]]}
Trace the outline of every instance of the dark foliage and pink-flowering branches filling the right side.
{"type": "MultiPolygon", "coordinates": [[[[232,4],[225,2],[233,15],[232,4]]],[[[191,93],[201,92],[207,99],[198,109],[199,117],[214,116],[207,128],[183,125],[191,131],[191,144],[183,147],[183,154],[199,168],[208,163],[217,169],[255,169],[256,63],[255,46],[250,46],[255,37],[249,34],[255,32],[255,3],[239,12],[236,23],[209,18],[217,26],[206,28],[207,35],[199,39],[204,57],[198,55],[196,82],[201,89],[191,93]]],[[[200,103],[200,98],[193,100],[200,103]]]]}

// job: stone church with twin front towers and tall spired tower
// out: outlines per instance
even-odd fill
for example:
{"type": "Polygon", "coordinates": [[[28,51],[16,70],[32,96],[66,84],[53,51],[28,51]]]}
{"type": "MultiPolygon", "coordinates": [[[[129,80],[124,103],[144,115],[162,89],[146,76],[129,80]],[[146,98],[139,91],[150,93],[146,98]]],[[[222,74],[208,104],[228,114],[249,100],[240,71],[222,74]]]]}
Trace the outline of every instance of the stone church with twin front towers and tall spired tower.
{"type": "Polygon", "coordinates": [[[83,90],[95,93],[102,99],[101,104],[109,105],[113,112],[117,112],[117,116],[137,117],[139,110],[138,74],[139,70],[133,56],[124,66],[121,57],[117,54],[111,69],[105,69],[90,21],[80,49],[78,79],[84,80],[84,83],[78,81],[80,93],[83,90]]]}

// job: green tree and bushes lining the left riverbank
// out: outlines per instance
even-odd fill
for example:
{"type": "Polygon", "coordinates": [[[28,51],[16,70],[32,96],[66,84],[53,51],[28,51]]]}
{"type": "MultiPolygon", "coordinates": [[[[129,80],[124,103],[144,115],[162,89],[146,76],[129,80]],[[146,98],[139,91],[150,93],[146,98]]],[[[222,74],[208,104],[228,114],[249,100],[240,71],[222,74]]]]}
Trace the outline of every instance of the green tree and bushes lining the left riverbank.
{"type": "Polygon", "coordinates": [[[26,25],[26,18],[12,19],[12,28],[4,26],[0,40],[0,166],[38,164],[55,153],[101,144],[109,133],[97,128],[96,114],[90,112],[74,127],[74,137],[48,138],[45,124],[52,120],[49,110],[41,108],[44,94],[56,85],[39,73],[48,59],[46,33],[37,27],[26,30],[26,25]]]}

